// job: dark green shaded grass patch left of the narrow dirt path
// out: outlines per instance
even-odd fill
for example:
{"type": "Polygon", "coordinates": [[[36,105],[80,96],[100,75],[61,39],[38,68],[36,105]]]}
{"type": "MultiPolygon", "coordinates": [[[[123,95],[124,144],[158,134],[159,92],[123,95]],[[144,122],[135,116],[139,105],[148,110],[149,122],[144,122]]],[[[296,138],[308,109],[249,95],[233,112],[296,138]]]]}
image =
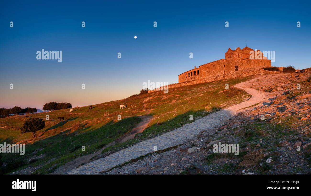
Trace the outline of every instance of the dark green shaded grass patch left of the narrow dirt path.
{"type": "MultiPolygon", "coordinates": [[[[16,162],[26,162],[33,156],[45,154],[44,158],[40,158],[34,163],[27,164],[27,167],[45,164],[44,167],[38,169],[35,174],[51,173],[63,163],[67,163],[75,157],[93,153],[96,149],[109,144],[127,131],[132,130],[139,122],[141,122],[141,118],[130,117],[80,134],[70,133],[70,130],[64,131],[55,136],[26,145],[26,153],[24,156],[11,153],[4,154],[2,160],[9,161],[13,158],[16,162]],[[85,152],[82,152],[82,146],[85,146],[85,152]],[[38,152],[33,154],[32,152],[34,151],[38,152]],[[49,163],[49,160],[52,158],[54,160],[49,163]]],[[[26,165],[24,167],[26,167],[26,165]]]]}

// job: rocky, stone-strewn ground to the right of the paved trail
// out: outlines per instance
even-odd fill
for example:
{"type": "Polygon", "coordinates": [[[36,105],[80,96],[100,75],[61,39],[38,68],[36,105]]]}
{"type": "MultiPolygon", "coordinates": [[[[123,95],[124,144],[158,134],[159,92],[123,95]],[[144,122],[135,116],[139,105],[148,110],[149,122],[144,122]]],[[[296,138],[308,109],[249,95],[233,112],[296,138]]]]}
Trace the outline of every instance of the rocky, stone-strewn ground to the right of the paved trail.
{"type": "Polygon", "coordinates": [[[269,93],[269,102],[242,109],[218,131],[201,131],[190,142],[101,174],[309,174],[310,73],[306,69],[253,80],[249,88],[269,93]],[[239,154],[214,153],[219,142],[239,144],[239,154]]]}

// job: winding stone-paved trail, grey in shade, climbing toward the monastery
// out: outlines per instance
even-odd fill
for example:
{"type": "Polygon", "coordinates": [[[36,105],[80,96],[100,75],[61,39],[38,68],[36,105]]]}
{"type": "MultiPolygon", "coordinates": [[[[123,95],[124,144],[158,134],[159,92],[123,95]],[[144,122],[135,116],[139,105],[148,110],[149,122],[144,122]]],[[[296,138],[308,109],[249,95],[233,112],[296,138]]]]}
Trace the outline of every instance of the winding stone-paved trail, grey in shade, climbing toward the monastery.
{"type": "Polygon", "coordinates": [[[235,85],[235,87],[241,88],[248,94],[252,95],[249,100],[209,114],[206,117],[174,129],[173,131],[164,133],[161,136],[142,141],[114,154],[110,154],[107,157],[82,165],[77,169],[67,172],[67,174],[98,174],[101,171],[108,171],[111,168],[122,165],[132,159],[152,153],[154,146],[157,146],[157,150],[160,151],[181,145],[188,140],[191,140],[194,136],[197,136],[201,131],[220,127],[223,122],[230,119],[239,109],[255,105],[259,102],[268,101],[268,93],[248,88],[254,80],[257,79],[258,78],[254,78],[235,85]]]}

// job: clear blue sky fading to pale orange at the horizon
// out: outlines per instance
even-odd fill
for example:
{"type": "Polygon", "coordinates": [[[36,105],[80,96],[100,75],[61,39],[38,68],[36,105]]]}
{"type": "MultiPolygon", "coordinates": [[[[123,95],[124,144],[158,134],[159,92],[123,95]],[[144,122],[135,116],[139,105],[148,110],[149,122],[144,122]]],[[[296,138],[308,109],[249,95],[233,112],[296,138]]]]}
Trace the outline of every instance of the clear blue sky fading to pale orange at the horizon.
{"type": "Polygon", "coordinates": [[[308,68],[309,8],[307,1],[1,2],[0,107],[123,99],[148,80],[177,83],[180,73],[222,59],[246,40],[276,51],[272,66],[308,68]],[[41,49],[63,51],[63,62],[37,60],[41,49]]]}

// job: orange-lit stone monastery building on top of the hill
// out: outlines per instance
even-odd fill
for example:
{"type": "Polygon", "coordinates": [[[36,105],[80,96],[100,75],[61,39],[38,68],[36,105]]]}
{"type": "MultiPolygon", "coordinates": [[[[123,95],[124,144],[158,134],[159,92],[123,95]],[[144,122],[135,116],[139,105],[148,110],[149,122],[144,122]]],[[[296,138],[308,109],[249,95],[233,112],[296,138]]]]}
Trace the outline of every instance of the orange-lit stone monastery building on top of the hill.
{"type": "Polygon", "coordinates": [[[198,80],[197,82],[210,82],[226,78],[235,78],[247,72],[254,72],[255,69],[271,67],[271,60],[263,56],[263,53],[259,50],[257,50],[257,56],[261,56],[261,58],[251,58],[252,51],[255,52],[249,47],[243,49],[237,47],[235,50],[229,48],[225,53],[225,59],[200,65],[198,68],[194,66],[194,69],[186,71],[178,76],[178,83],[195,80],[198,80]]]}

